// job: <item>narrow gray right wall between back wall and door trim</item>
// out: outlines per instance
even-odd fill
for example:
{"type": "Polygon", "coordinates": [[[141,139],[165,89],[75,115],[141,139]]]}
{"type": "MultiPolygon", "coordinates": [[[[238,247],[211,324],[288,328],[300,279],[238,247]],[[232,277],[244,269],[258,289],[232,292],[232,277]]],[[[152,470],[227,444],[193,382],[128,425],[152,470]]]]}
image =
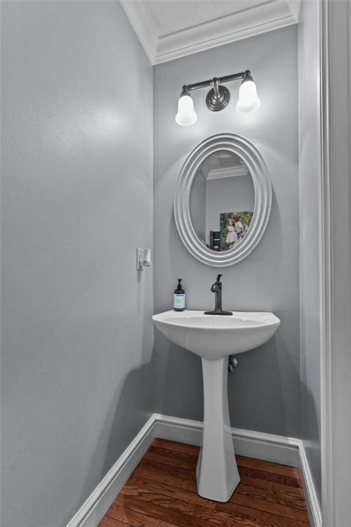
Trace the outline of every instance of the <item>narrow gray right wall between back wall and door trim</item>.
{"type": "Polygon", "coordinates": [[[298,31],[301,434],[321,500],[318,23],[319,4],[303,1],[298,31]]]}

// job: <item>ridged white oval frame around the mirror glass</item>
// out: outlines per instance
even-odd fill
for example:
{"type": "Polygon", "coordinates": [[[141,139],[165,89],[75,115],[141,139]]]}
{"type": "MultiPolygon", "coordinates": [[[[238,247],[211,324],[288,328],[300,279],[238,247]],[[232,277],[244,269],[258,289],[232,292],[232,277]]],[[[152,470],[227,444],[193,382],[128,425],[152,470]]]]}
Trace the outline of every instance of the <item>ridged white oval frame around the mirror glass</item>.
{"type": "Polygon", "coordinates": [[[174,218],[184,246],[197,260],[211,267],[227,267],[246,258],[260,242],[271,212],[271,180],[265,161],[254,145],[235,134],[217,134],[199,143],[186,159],[174,195],[174,218]],[[199,165],[219,150],[234,152],[246,163],[254,184],[254,215],[243,241],[230,250],[211,250],[195,233],[190,215],[191,187],[199,165]]]}

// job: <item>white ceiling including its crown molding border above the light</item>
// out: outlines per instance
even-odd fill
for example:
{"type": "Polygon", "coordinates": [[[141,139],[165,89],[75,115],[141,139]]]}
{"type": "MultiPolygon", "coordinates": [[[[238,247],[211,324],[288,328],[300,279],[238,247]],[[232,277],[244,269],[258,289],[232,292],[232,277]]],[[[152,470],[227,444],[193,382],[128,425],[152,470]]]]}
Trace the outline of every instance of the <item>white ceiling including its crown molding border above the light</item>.
{"type": "Polygon", "coordinates": [[[121,0],[152,64],[298,22],[301,0],[121,0]]]}

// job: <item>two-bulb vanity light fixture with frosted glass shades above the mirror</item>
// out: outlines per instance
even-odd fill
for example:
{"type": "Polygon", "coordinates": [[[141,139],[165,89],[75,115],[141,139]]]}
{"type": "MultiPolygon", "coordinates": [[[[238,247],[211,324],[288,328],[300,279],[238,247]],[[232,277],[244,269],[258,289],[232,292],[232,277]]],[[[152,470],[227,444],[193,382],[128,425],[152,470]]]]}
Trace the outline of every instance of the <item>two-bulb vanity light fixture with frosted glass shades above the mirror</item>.
{"type": "Polygon", "coordinates": [[[213,86],[206,95],[206,105],[212,112],[219,112],[226,108],[230,99],[230,92],[224,82],[240,80],[239,100],[237,102],[238,113],[251,113],[261,106],[261,101],[257,96],[256,85],[251,75],[251,71],[241,71],[225,77],[215,77],[195,84],[184,84],[178,101],[178,113],[175,115],[175,122],[180,126],[190,126],[197,121],[197,115],[194,110],[193,99],[190,95],[191,90],[213,86]]]}

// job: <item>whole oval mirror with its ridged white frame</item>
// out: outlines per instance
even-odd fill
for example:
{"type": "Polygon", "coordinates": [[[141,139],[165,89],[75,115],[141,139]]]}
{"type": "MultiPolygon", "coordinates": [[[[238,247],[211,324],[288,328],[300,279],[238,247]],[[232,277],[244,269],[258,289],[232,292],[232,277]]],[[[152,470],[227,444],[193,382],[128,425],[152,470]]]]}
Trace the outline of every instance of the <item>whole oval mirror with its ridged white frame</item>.
{"type": "Polygon", "coordinates": [[[199,143],[175,186],[175,224],[182,242],[202,263],[237,264],[260,242],[271,210],[271,181],[249,141],[219,134],[199,143]]]}

